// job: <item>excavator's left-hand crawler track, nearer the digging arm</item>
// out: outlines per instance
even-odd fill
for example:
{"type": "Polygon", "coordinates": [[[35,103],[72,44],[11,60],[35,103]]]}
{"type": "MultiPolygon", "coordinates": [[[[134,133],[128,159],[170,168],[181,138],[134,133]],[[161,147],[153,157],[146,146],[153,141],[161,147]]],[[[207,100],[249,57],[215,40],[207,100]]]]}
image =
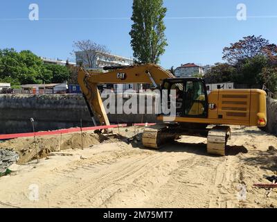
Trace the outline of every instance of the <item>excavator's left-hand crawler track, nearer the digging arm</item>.
{"type": "Polygon", "coordinates": [[[143,146],[148,148],[160,148],[164,144],[168,144],[174,140],[178,135],[170,132],[166,124],[157,124],[143,131],[143,146]]]}

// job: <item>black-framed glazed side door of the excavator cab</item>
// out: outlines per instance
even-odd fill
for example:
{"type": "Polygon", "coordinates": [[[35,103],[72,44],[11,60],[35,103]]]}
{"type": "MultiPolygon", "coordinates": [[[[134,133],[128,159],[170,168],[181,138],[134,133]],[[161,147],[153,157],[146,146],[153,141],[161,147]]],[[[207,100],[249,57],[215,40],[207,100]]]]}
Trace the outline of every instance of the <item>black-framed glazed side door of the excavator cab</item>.
{"type": "Polygon", "coordinates": [[[195,79],[185,81],[184,117],[208,117],[208,96],[203,80],[195,79]]]}

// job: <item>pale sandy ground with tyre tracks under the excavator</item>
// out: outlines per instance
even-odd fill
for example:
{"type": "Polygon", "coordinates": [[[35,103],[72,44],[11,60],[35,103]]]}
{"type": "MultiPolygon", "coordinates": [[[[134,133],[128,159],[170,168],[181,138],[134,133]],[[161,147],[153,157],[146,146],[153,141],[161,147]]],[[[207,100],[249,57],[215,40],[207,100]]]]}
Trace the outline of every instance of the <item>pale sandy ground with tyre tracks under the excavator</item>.
{"type": "Polygon", "coordinates": [[[199,137],[154,151],[92,136],[83,150],[13,166],[0,178],[0,207],[277,207],[277,189],[253,187],[277,173],[277,137],[258,128],[233,127],[225,157],[207,155],[199,137]]]}

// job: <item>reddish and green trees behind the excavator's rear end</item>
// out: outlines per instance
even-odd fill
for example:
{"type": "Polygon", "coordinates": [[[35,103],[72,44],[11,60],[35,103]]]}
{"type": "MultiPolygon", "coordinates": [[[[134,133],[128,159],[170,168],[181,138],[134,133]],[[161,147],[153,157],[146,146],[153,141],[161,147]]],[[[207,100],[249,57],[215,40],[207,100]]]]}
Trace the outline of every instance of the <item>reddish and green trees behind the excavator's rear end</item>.
{"type": "Polygon", "coordinates": [[[205,75],[207,83],[233,81],[253,87],[265,85],[277,92],[277,46],[249,35],[223,49],[226,63],[217,63],[205,75]]]}

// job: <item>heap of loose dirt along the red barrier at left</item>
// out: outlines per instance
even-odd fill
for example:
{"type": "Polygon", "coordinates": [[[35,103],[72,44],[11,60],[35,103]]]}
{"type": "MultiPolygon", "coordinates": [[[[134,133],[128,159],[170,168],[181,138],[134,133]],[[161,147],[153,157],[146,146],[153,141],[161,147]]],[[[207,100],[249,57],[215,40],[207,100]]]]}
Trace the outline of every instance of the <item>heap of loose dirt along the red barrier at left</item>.
{"type": "Polygon", "coordinates": [[[25,164],[37,158],[46,157],[48,153],[66,149],[86,148],[102,142],[114,142],[104,135],[96,133],[71,133],[66,135],[51,135],[37,137],[36,143],[33,137],[10,139],[0,143],[0,149],[12,150],[19,154],[18,164],[25,164]]]}

